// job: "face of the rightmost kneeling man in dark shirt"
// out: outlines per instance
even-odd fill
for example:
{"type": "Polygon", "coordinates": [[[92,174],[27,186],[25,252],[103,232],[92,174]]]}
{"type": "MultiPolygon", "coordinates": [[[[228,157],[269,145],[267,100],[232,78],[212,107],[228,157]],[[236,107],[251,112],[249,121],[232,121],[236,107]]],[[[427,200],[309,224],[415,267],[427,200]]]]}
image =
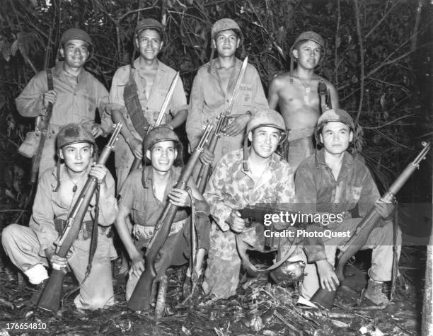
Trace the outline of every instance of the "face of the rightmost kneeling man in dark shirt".
{"type": "Polygon", "coordinates": [[[323,148],[330,154],[341,154],[353,139],[353,132],[342,122],[328,122],[323,125],[320,140],[323,148]]]}

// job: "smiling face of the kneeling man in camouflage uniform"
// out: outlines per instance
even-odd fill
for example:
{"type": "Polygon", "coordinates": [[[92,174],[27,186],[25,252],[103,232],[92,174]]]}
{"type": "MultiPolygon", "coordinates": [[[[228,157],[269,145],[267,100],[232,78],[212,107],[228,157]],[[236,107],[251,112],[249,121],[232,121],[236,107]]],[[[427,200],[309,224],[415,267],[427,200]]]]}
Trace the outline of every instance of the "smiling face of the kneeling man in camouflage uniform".
{"type": "Polygon", "coordinates": [[[251,150],[261,158],[269,158],[277,150],[281,131],[275,127],[261,126],[248,134],[251,150]]]}

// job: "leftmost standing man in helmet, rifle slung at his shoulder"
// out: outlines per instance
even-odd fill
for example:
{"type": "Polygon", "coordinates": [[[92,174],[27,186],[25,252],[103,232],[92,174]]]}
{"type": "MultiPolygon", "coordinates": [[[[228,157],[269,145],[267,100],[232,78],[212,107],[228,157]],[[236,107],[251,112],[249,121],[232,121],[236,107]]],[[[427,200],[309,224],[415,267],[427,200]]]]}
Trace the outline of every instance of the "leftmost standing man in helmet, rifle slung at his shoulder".
{"type": "Polygon", "coordinates": [[[84,64],[93,54],[89,35],[77,28],[66,30],[60,38],[59,54],[64,60],[57,62],[52,69],[40,71],[16,98],[16,108],[24,117],[43,117],[48,104],[53,105],[40,160],[40,174],[56,163],[55,140],[62,126],[71,122],[88,122],[93,137],[106,136],[112,126],[110,116],[105,113],[108,91],[84,69],[84,64]],[[52,73],[52,90],[48,89],[47,71],[52,73]],[[96,109],[101,124],[95,123],[96,109]]]}

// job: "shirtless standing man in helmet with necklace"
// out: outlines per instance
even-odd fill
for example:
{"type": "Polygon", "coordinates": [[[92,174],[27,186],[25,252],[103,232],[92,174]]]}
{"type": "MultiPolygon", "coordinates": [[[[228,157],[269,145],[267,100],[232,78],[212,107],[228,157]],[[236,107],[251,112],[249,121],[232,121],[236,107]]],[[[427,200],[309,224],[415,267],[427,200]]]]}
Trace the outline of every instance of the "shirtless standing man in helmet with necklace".
{"type": "MultiPolygon", "coordinates": [[[[330,91],[333,108],[338,108],[335,87],[314,69],[325,55],[321,35],[311,31],[301,33],[290,49],[290,71],[272,79],[268,92],[270,108],[281,112],[289,130],[283,145],[283,156],[296,170],[299,163],[313,153],[313,132],[321,115],[318,83],[324,81],[330,91]],[[296,61],[296,69],[294,68],[296,61]]],[[[322,111],[325,112],[325,111],[322,111]]]]}

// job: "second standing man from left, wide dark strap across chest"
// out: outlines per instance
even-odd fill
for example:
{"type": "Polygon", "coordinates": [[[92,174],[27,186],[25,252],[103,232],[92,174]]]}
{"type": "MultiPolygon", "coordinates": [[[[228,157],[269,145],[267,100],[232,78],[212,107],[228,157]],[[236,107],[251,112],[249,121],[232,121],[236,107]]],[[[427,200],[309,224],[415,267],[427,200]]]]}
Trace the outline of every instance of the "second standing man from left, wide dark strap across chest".
{"type": "MultiPolygon", "coordinates": [[[[134,43],[140,56],[129,66],[117,69],[112,78],[110,103],[112,120],[122,120],[122,136],[115,149],[117,189],[124,183],[134,161],[142,158],[143,124],[154,126],[176,71],[158,60],[163,47],[164,26],[153,18],[139,21],[134,43]]],[[[187,117],[187,102],[182,81],[178,81],[162,124],[172,129],[187,117]]]]}

